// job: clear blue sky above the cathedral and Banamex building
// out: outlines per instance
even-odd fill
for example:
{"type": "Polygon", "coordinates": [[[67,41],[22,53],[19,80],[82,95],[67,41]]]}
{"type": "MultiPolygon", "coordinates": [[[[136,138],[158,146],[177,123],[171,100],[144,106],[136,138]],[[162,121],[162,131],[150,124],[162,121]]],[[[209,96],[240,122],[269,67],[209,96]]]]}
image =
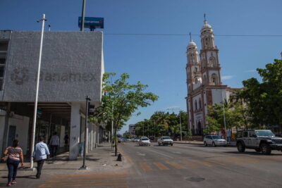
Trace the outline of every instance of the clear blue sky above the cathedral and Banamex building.
{"type": "MultiPolygon", "coordinates": [[[[191,32],[201,49],[204,13],[219,49],[222,82],[240,88],[243,80],[259,78],[256,68],[281,58],[281,7],[281,0],[86,0],[85,16],[104,18],[106,72],[128,73],[130,83],[148,84],[147,92],[159,96],[121,133],[154,111],[186,111],[186,46],[191,32]]],[[[39,31],[36,20],[45,13],[45,30],[78,31],[81,10],[82,0],[0,0],[0,30],[39,31]]]]}

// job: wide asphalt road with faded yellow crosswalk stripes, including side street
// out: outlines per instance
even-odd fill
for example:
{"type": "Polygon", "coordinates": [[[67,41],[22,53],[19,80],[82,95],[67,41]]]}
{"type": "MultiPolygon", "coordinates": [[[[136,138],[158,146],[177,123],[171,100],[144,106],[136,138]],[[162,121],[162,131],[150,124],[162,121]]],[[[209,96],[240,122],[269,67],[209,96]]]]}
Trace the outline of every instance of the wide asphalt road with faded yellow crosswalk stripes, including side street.
{"type": "Polygon", "coordinates": [[[21,176],[13,187],[282,187],[281,151],[264,156],[249,149],[238,153],[235,147],[138,146],[133,142],[120,144],[118,149],[127,168],[44,175],[40,180],[21,176]]]}

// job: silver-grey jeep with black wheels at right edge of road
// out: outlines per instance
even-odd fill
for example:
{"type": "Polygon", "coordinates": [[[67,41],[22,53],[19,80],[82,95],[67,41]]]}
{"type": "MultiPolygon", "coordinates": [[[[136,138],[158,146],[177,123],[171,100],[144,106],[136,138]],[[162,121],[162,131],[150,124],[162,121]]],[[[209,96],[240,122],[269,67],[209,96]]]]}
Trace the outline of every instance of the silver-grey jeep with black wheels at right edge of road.
{"type": "Polygon", "coordinates": [[[271,150],[282,151],[282,138],[275,137],[271,130],[241,130],[237,133],[236,146],[239,152],[255,149],[269,155],[271,150]]]}

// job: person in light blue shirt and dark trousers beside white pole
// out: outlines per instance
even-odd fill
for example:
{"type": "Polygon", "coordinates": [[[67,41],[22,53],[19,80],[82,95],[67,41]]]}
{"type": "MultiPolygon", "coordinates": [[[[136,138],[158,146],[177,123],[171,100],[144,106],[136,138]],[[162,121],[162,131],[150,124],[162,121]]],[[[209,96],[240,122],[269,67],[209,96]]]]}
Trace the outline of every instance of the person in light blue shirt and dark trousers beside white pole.
{"type": "Polygon", "coordinates": [[[49,158],[50,152],[47,144],[44,143],[44,137],[39,137],[39,142],[35,146],[35,152],[33,153],[33,158],[37,161],[37,179],[40,178],[41,170],[44,165],[44,161],[49,158]]]}

